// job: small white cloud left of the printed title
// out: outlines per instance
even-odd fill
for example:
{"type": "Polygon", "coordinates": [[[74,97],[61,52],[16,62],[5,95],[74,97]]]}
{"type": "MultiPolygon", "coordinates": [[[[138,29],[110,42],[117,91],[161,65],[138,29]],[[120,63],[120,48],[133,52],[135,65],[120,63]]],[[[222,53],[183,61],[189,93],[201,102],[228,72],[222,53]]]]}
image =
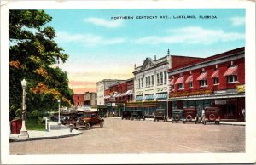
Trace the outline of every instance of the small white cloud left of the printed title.
{"type": "Polygon", "coordinates": [[[122,26],[123,20],[104,20],[102,18],[96,18],[96,17],[90,17],[87,19],[84,19],[84,22],[92,23],[96,26],[104,26],[108,28],[115,28],[122,26]]]}

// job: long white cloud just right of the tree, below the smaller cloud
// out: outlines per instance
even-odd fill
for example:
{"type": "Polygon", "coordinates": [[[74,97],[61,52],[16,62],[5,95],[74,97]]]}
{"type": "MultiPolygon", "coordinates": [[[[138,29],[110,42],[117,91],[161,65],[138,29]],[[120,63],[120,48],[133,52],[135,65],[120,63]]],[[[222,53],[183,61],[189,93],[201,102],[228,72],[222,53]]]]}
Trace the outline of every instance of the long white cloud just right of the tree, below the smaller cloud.
{"type": "Polygon", "coordinates": [[[124,43],[125,38],[113,37],[106,38],[95,34],[69,34],[67,32],[57,32],[56,42],[58,43],[82,43],[84,46],[96,46],[96,45],[111,45],[117,43],[124,43]]]}

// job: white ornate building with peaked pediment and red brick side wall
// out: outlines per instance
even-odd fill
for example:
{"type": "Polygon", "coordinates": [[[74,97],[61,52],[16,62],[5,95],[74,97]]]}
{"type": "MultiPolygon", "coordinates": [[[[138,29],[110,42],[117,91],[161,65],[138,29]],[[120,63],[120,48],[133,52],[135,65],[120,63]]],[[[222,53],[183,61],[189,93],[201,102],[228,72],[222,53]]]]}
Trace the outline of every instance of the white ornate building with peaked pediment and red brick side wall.
{"type": "MultiPolygon", "coordinates": [[[[169,54],[169,51],[168,51],[169,54]]],[[[143,65],[135,67],[134,97],[136,102],[127,104],[131,109],[142,109],[146,116],[153,116],[156,108],[168,109],[168,70],[201,58],[166,55],[154,60],[146,58],[143,65]]],[[[166,111],[167,112],[167,111],[166,111]]]]}

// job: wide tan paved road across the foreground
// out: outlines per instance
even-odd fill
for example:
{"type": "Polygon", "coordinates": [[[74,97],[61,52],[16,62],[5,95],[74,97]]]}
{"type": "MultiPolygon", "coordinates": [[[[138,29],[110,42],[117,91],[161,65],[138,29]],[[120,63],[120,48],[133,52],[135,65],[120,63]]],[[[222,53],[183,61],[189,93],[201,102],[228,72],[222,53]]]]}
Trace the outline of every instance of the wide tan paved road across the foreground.
{"type": "Polygon", "coordinates": [[[10,143],[10,154],[245,152],[245,127],[105,119],[104,128],[10,143]]]}

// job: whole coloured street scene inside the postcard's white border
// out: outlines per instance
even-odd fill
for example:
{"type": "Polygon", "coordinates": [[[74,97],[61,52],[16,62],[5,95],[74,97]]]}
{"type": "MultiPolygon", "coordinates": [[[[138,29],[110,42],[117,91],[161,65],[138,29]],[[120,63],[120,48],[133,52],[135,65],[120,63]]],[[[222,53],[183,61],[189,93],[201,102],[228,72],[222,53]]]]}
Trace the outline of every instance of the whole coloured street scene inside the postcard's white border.
{"type": "Polygon", "coordinates": [[[245,9],[8,12],[9,155],[246,153],[245,9]]]}

